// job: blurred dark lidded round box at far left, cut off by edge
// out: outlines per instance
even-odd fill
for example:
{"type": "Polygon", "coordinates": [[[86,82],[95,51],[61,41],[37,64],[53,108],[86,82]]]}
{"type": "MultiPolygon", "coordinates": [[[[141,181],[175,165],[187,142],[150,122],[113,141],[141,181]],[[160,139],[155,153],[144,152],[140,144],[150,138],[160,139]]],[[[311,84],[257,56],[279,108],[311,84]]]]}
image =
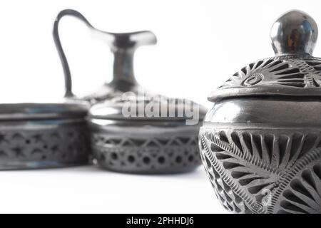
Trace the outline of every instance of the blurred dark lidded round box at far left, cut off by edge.
{"type": "Polygon", "coordinates": [[[0,104],[0,170],[88,164],[88,103],[0,104]]]}

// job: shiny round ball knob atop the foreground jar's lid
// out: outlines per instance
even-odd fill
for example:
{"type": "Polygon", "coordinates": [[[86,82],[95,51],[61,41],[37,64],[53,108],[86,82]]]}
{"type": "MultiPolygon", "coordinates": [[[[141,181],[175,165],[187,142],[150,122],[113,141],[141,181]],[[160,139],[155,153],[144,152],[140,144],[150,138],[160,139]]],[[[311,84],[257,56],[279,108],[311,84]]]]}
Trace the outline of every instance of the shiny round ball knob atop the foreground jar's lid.
{"type": "Polygon", "coordinates": [[[277,56],[312,56],[317,41],[317,24],[302,11],[289,11],[273,24],[270,36],[277,56]]]}

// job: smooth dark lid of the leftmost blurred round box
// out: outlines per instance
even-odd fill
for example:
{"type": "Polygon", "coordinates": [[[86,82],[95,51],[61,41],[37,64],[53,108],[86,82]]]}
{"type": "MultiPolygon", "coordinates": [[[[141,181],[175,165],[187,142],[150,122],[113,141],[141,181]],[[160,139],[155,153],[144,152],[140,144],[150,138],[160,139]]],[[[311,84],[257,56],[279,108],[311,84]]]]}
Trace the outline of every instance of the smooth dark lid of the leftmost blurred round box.
{"type": "Polygon", "coordinates": [[[0,121],[84,118],[88,108],[87,102],[76,100],[63,100],[61,103],[1,103],[0,121]]]}

